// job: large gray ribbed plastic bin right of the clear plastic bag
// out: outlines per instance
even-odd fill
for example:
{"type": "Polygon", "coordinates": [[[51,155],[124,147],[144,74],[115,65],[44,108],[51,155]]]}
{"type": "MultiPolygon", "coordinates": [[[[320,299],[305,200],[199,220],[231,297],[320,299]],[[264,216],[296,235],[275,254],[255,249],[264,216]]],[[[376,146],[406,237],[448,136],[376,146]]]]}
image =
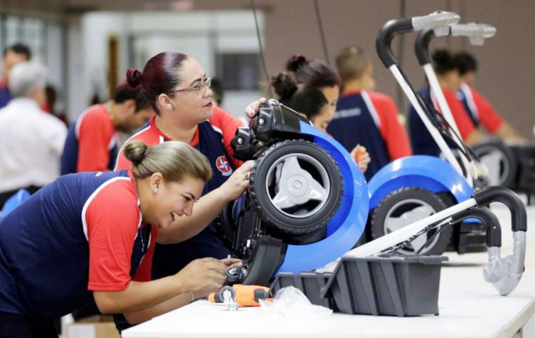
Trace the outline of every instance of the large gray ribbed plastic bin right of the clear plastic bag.
{"type": "Polygon", "coordinates": [[[445,256],[342,258],[322,288],[339,311],[367,315],[438,315],[445,256]]]}

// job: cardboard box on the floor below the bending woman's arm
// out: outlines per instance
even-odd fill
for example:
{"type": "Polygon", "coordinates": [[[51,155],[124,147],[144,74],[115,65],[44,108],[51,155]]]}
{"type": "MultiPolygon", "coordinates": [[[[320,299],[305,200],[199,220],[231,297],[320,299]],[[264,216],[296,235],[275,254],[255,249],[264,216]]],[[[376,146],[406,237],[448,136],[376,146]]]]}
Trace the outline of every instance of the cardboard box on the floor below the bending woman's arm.
{"type": "Polygon", "coordinates": [[[120,338],[110,316],[94,316],[77,321],[66,328],[67,338],[120,338]]]}

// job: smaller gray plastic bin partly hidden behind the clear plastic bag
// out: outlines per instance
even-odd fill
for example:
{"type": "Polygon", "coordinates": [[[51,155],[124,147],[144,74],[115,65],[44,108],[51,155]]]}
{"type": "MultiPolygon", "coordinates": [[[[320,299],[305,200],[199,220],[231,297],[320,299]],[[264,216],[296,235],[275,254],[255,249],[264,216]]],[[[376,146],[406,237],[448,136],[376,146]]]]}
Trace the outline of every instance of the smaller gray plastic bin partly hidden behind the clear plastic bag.
{"type": "Polygon", "coordinates": [[[275,296],[279,289],[282,289],[283,287],[296,287],[305,294],[310,303],[332,308],[334,310],[336,308],[334,299],[330,296],[322,298],[320,295],[321,289],[322,287],[325,287],[329,277],[331,277],[330,273],[279,273],[271,284],[270,289],[272,295],[275,296]]]}

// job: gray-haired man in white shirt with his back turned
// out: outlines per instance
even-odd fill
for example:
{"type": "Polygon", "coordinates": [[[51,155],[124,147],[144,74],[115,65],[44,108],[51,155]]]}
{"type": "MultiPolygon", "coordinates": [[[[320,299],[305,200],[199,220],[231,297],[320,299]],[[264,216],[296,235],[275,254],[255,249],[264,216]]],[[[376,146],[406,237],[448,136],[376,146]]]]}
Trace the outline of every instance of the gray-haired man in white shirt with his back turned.
{"type": "Polygon", "coordinates": [[[46,68],[15,65],[9,75],[13,99],[0,109],[0,210],[18,189],[31,193],[59,175],[67,135],[58,118],[40,108],[46,100],[46,68]]]}

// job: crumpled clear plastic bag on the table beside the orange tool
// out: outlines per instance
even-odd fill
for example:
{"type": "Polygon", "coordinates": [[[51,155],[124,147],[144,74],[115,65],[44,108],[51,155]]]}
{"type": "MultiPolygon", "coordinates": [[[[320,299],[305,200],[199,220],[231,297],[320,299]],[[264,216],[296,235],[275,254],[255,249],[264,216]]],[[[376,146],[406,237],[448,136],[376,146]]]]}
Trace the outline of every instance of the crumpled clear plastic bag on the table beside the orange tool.
{"type": "Polygon", "coordinates": [[[303,292],[296,287],[279,289],[272,301],[260,299],[259,303],[260,308],[268,315],[310,318],[325,317],[332,313],[330,308],[310,303],[303,292]]]}

